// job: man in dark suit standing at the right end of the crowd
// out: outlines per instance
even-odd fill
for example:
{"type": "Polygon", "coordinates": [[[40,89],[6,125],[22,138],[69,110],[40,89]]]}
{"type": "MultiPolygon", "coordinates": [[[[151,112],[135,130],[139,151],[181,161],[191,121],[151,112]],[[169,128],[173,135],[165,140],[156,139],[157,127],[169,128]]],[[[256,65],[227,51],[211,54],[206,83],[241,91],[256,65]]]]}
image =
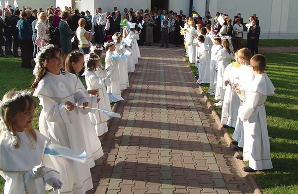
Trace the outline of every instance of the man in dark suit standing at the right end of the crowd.
{"type": "Polygon", "coordinates": [[[256,24],[256,21],[251,22],[252,26],[250,26],[249,31],[247,33],[247,45],[246,47],[251,51],[251,54],[259,54],[258,44],[261,28],[256,24]]]}

